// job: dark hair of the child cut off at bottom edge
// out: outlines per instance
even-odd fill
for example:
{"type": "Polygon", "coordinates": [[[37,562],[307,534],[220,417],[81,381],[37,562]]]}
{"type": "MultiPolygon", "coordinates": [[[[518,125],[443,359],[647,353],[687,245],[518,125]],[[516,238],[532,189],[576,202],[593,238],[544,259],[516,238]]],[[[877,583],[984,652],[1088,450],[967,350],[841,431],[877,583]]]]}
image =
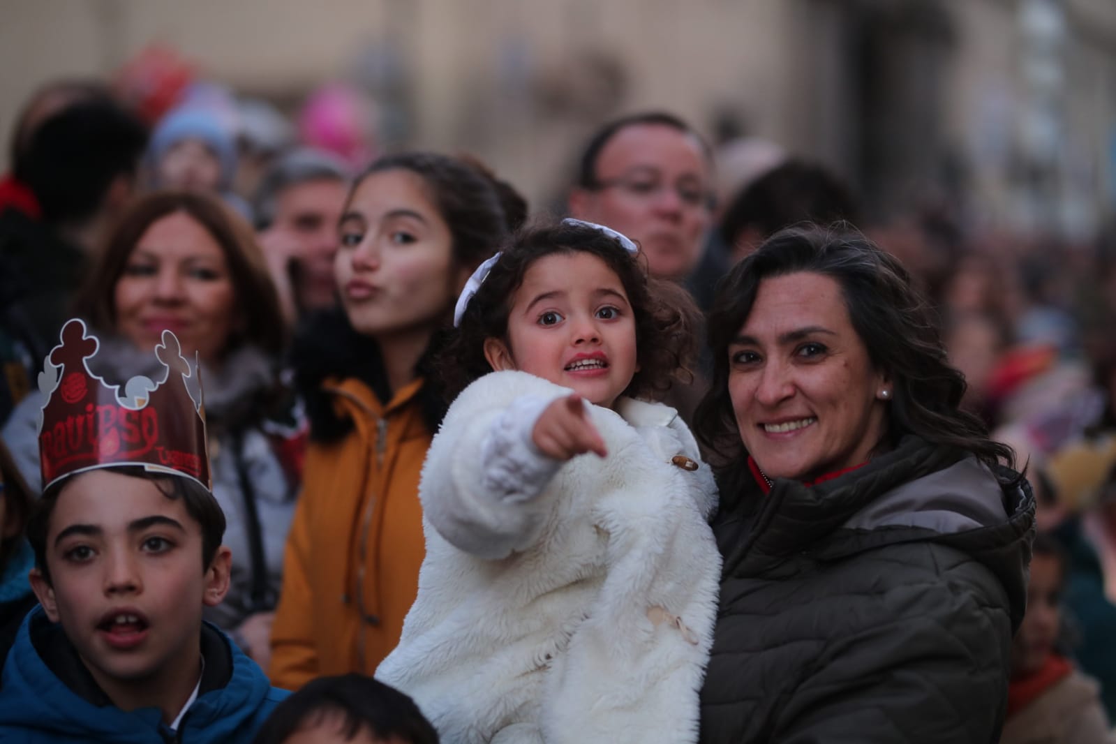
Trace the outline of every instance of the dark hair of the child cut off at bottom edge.
{"type": "Polygon", "coordinates": [[[280,703],[256,734],[256,744],[282,744],[296,732],[331,717],[345,741],[362,731],[376,740],[437,744],[437,732],[410,697],[359,674],[318,677],[280,703]]]}

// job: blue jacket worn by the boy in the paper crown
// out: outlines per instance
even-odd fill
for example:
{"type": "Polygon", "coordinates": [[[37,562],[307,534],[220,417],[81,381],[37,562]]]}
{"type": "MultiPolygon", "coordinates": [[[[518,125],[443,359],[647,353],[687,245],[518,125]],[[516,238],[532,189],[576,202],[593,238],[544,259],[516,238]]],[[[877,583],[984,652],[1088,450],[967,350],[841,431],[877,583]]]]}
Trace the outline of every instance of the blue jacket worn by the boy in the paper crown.
{"type": "Polygon", "coordinates": [[[198,699],[171,732],[156,708],[125,713],[113,706],[61,628],[37,607],[23,620],[0,677],[0,742],[249,744],[289,693],[271,687],[256,663],[210,625],[202,627],[202,656],[198,699]]]}

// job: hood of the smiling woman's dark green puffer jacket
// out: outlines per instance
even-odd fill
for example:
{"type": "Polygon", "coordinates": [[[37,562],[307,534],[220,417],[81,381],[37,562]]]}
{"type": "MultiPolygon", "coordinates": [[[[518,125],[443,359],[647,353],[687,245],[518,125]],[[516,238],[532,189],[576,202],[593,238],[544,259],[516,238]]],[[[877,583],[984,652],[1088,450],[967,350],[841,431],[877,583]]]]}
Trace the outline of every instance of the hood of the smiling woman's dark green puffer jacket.
{"type": "Polygon", "coordinates": [[[725,554],[725,567],[775,564],[802,551],[839,560],[891,544],[934,542],[995,574],[1017,628],[1033,535],[1035,499],[1018,473],[1007,467],[993,473],[966,453],[907,436],[894,451],[831,481],[807,486],[776,480],[756,505],[748,538],[725,554]]]}

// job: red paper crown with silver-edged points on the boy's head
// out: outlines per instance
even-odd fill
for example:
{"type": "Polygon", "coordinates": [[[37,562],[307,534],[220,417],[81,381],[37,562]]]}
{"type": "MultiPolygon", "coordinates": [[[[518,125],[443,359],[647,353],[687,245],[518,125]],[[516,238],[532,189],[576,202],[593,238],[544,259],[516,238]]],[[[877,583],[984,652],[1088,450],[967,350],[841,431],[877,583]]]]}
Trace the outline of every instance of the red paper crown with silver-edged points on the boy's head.
{"type": "Polygon", "coordinates": [[[76,473],[124,465],[189,477],[210,489],[201,380],[174,334],[164,330],[155,347],[166,368],[162,381],[133,377],[124,395],[89,370],[88,359],[100,342],[81,320],[67,322],[59,336],[61,344],[39,373],[46,400],[39,416],[42,490],[76,473]]]}

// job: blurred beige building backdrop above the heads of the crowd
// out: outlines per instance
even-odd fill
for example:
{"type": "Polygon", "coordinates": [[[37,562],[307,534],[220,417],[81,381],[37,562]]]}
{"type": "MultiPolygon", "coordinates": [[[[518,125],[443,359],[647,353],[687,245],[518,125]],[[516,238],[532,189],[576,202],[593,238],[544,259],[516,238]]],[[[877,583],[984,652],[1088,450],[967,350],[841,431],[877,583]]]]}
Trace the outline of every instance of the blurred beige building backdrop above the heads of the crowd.
{"type": "MultiPolygon", "coordinates": [[[[829,165],[872,216],[1094,234],[1116,211],[1113,0],[2,0],[0,137],[42,81],[172,50],[295,112],[366,91],[378,149],[468,151],[557,199],[604,118],[666,108],[713,141],[829,165]]],[[[4,164],[0,154],[0,167],[4,164]]]]}

